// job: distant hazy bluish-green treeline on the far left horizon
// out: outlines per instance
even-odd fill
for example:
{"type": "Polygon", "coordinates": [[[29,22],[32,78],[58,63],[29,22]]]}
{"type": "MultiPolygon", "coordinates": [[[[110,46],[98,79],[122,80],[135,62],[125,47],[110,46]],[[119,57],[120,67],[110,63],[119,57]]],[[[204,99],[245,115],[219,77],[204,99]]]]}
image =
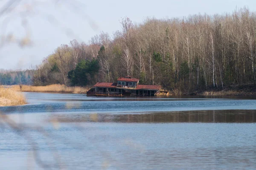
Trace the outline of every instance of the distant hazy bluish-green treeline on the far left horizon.
{"type": "Polygon", "coordinates": [[[31,85],[34,71],[0,71],[0,85],[31,85]]]}

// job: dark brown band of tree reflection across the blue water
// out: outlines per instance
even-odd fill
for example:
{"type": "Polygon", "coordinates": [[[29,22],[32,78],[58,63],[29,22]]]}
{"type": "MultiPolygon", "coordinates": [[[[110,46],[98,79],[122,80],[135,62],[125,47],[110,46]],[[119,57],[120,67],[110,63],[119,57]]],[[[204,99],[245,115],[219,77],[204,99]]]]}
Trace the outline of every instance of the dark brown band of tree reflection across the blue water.
{"type": "Polygon", "coordinates": [[[218,111],[173,111],[154,113],[100,113],[78,114],[76,116],[58,115],[59,122],[122,122],[122,123],[252,123],[256,122],[256,110],[218,110],[218,111]],[[97,119],[95,119],[97,117],[97,119]]]}

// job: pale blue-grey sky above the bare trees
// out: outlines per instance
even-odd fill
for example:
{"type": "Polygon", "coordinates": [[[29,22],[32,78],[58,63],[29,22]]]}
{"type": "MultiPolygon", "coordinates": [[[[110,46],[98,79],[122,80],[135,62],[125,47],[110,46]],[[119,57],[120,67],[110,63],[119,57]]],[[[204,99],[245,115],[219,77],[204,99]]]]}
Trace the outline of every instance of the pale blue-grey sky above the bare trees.
{"type": "MultiPolygon", "coordinates": [[[[7,1],[0,1],[0,10],[7,1]]],[[[0,69],[39,65],[55,48],[73,39],[88,42],[101,31],[112,36],[121,28],[121,17],[141,23],[145,17],[224,14],[244,6],[256,11],[256,0],[23,0],[0,16],[0,69]],[[3,37],[10,42],[1,46],[3,37]],[[22,46],[17,40],[31,42],[22,46]]]]}

